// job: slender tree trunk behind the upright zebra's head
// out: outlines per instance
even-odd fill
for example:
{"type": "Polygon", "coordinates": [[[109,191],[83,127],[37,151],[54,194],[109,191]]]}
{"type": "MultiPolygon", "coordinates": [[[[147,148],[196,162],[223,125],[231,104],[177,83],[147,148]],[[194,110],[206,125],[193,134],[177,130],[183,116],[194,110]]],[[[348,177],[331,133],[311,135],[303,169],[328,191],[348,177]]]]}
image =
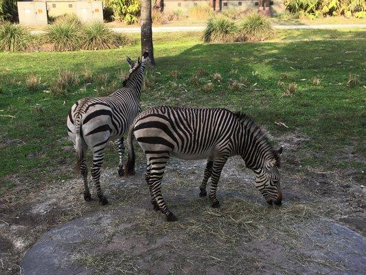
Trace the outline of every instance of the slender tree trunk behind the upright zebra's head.
{"type": "Polygon", "coordinates": [[[150,64],[155,65],[152,48],[151,0],[141,0],[141,54],[149,53],[150,64]]]}

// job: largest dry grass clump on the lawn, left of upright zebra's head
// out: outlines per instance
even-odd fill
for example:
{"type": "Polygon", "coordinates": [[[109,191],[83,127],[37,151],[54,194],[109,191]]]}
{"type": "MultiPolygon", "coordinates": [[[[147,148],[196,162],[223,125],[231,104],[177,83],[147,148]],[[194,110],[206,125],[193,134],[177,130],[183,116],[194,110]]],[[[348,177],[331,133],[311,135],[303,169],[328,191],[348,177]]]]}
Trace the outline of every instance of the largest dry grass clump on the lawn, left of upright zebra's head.
{"type": "Polygon", "coordinates": [[[54,84],[51,85],[51,94],[54,96],[63,96],[71,91],[72,87],[79,85],[79,82],[79,76],[75,72],[71,72],[68,69],[60,71],[58,73],[58,78],[56,78],[54,84]]]}

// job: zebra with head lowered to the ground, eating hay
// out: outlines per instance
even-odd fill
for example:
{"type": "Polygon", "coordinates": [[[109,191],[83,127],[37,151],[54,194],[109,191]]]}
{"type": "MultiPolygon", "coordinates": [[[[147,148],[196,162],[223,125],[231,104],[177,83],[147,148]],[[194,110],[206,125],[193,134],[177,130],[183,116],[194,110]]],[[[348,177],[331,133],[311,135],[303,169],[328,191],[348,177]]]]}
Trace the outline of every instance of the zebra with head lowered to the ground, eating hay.
{"type": "Polygon", "coordinates": [[[212,207],[220,207],[216,188],[222,167],[233,155],[240,155],[255,173],[255,186],[270,204],[281,204],[279,187],[279,156],[268,139],[244,113],[227,109],[199,109],[185,107],[154,107],[140,113],[128,132],[128,162],[125,174],[134,170],[132,135],[147,158],[146,182],[151,203],[161,210],[168,221],[176,221],[161,195],[161,179],[170,156],[181,159],[207,158],[200,186],[200,196],[206,196],[206,185],[211,177],[209,197],[212,207]]]}

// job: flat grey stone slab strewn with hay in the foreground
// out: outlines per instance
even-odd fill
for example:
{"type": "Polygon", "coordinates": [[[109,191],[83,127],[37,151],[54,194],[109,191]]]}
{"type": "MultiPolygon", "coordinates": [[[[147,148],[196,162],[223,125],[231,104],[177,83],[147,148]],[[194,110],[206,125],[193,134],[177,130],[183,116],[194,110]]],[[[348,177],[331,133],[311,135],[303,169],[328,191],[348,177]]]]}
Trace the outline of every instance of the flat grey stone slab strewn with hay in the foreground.
{"type": "MultiPolygon", "coordinates": [[[[170,270],[174,270],[177,263],[181,267],[181,270],[177,271],[178,274],[184,272],[200,274],[205,259],[188,259],[191,254],[194,254],[195,248],[181,243],[180,240],[184,240],[184,237],[179,226],[172,228],[165,235],[157,234],[159,232],[151,232],[150,235],[133,234],[134,227],[140,225],[134,223],[135,218],[131,217],[137,217],[141,213],[148,214],[146,212],[149,211],[151,210],[126,207],[117,212],[100,211],[50,230],[43,234],[41,240],[23,257],[20,264],[22,274],[69,275],[98,274],[99,272],[118,274],[115,270],[108,270],[108,268],[102,271],[93,269],[93,263],[90,261],[96,261],[98,255],[102,257],[98,261],[105,259],[107,262],[117,262],[120,270],[135,274],[168,274],[170,270]],[[123,217],[127,213],[129,217],[123,217]],[[122,222],[115,223],[121,217],[122,222]],[[178,247],[179,250],[174,250],[172,247],[178,247]],[[179,254],[177,254],[178,251],[180,251],[179,254]],[[88,259],[90,255],[95,256],[95,259],[88,259]]],[[[161,223],[166,222],[161,221],[161,223]]],[[[246,264],[249,270],[253,265],[252,274],[282,274],[283,270],[287,270],[290,274],[292,272],[365,274],[366,238],[364,236],[327,219],[321,220],[320,223],[313,223],[312,228],[313,233],[306,236],[305,245],[302,243],[301,248],[297,248],[301,250],[303,259],[299,258],[296,261],[288,261],[287,258],[290,255],[285,253],[288,250],[286,245],[280,245],[268,239],[238,243],[235,249],[238,250],[238,255],[242,259],[255,259],[255,262],[250,263],[249,266],[246,264]],[[314,243],[318,245],[314,246],[314,243]]],[[[299,234],[301,233],[300,229],[299,234]]],[[[214,255],[211,257],[216,258],[214,255]]],[[[239,257],[237,261],[241,261],[239,257]]],[[[202,274],[229,272],[227,267],[220,265],[220,261],[218,265],[208,266],[204,270],[202,274]]]]}

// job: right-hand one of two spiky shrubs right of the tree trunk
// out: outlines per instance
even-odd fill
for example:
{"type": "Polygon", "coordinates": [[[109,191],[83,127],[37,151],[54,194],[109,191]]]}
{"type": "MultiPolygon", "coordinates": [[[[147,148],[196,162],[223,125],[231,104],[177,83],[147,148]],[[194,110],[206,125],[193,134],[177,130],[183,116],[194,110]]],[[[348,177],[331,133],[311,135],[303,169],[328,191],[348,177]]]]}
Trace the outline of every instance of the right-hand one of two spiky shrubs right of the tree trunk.
{"type": "Polygon", "coordinates": [[[249,14],[246,19],[240,23],[240,41],[264,41],[271,39],[275,32],[271,23],[266,17],[260,14],[249,14]]]}

